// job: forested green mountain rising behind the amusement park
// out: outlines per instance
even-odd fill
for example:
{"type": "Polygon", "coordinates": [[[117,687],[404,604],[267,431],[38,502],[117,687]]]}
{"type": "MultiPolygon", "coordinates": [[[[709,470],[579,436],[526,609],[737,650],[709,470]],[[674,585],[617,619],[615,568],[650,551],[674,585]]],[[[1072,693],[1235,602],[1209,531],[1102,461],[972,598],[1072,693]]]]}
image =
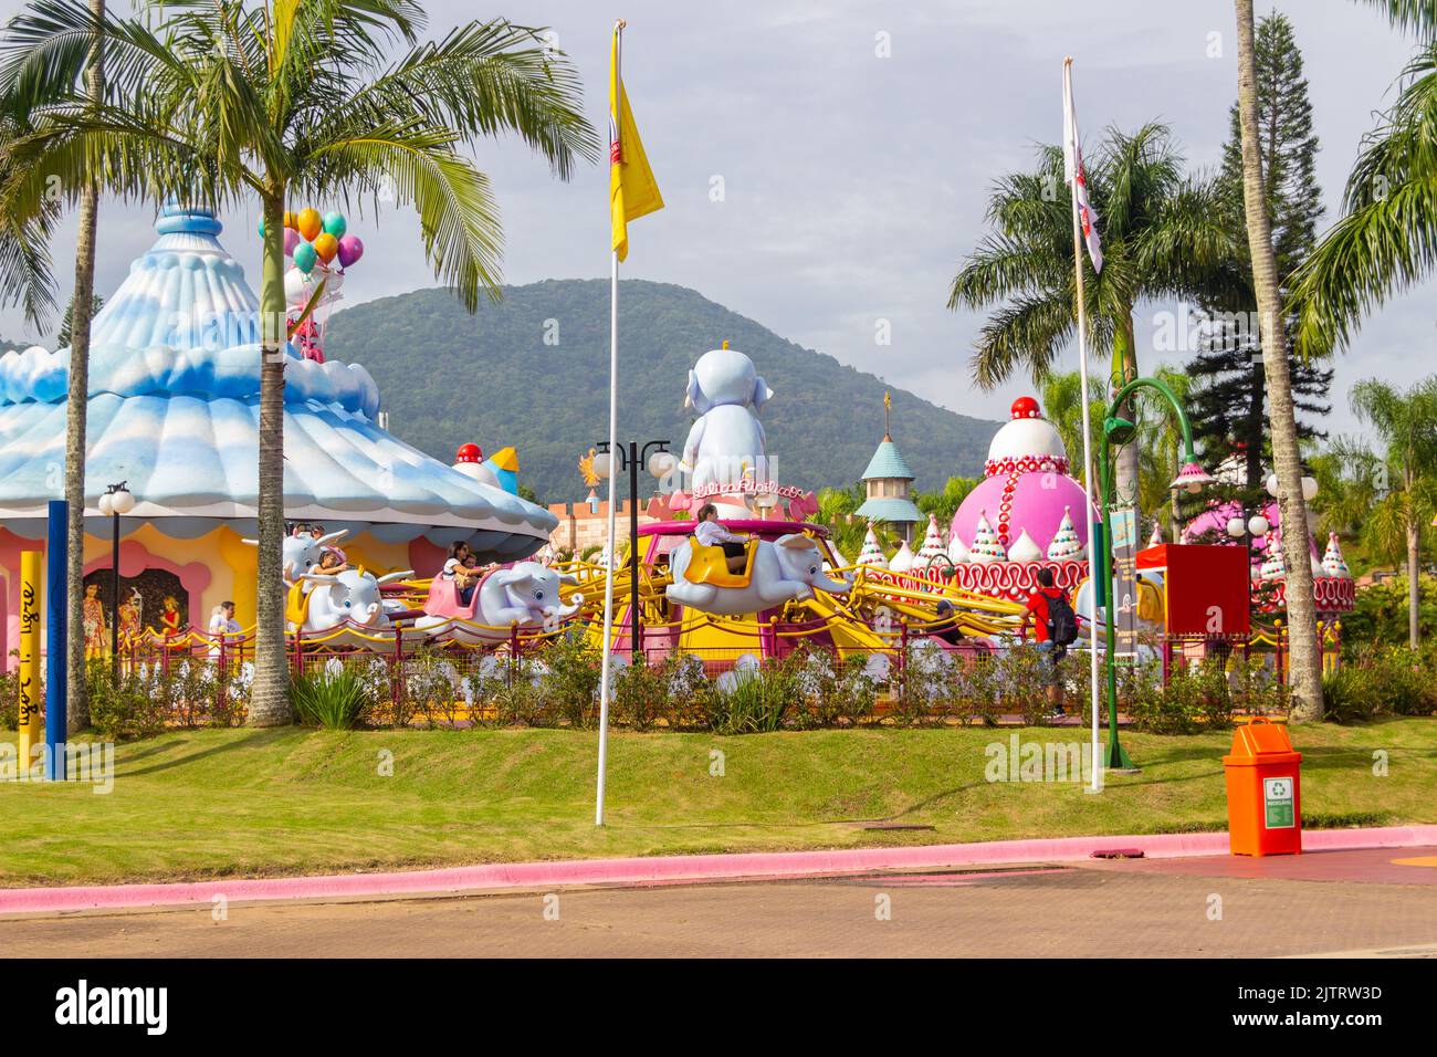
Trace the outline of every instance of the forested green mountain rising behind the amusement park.
{"type": "MultiPolygon", "coordinates": [[[[849,485],[862,475],[884,431],[881,380],[683,286],[627,280],[619,306],[621,440],[671,440],[680,450],[693,421],[683,406],[688,368],[729,341],[775,391],[763,426],[785,483],[849,485]]],[[[576,463],[608,434],[606,280],[507,286],[474,315],[443,289],[369,301],[333,315],[325,349],[368,368],[389,429],[415,447],[451,462],[467,441],[486,454],[513,444],[519,479],[542,502],[585,495],[576,463]]],[[[894,440],[921,489],[979,475],[996,429],[892,390],[894,440]]]]}

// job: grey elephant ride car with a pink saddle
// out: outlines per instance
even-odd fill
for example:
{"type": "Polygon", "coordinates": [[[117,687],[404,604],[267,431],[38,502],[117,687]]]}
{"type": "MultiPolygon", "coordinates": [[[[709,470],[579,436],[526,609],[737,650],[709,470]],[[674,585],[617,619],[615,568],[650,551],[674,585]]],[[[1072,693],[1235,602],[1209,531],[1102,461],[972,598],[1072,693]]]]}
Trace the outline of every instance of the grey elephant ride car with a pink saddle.
{"type": "Polygon", "coordinates": [[[468,605],[461,605],[454,581],[434,577],[424,601],[425,616],[414,623],[414,630],[431,636],[448,630],[461,643],[502,641],[516,626],[535,631],[578,613],[582,595],[575,595],[569,604],[559,598],[562,584],[578,582],[578,577],[568,572],[555,572],[536,561],[520,561],[484,575],[468,605]]]}

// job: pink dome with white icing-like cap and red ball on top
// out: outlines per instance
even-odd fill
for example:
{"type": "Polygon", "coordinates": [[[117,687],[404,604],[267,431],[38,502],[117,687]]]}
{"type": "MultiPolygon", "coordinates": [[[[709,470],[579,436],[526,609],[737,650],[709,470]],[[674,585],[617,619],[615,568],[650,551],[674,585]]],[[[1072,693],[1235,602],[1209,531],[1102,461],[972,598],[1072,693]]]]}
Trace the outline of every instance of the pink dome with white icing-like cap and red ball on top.
{"type": "Polygon", "coordinates": [[[1009,561],[1040,561],[1048,558],[1063,513],[1071,512],[1073,531],[1086,548],[1092,515],[1083,516],[1089,508],[1082,485],[1068,476],[1068,452],[1062,437],[1042,417],[1032,397],[1019,397],[1012,410],[1012,421],[989,444],[983,467],[986,479],[953,515],[950,539],[957,534],[966,545],[971,545],[979,519],[986,515],[999,542],[1009,551],[1009,561]],[[1036,554],[1012,552],[1023,534],[1036,546],[1036,554]]]}

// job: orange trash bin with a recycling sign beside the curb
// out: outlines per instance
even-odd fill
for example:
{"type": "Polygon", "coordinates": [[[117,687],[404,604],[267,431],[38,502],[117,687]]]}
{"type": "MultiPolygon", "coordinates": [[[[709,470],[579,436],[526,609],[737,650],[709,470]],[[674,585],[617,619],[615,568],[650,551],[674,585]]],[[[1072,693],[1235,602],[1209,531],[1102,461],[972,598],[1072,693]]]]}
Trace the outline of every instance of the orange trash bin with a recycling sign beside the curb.
{"type": "Polygon", "coordinates": [[[1227,843],[1234,856],[1302,851],[1302,754],[1288,729],[1255,716],[1233,731],[1223,756],[1227,777],[1227,843]]]}

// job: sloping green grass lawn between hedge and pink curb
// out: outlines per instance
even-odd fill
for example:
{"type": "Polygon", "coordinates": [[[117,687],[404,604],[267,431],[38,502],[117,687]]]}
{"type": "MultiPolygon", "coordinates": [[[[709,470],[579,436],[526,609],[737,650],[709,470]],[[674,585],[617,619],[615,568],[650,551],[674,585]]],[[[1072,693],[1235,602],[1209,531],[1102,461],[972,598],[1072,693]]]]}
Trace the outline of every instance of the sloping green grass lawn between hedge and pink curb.
{"type": "MultiPolygon", "coordinates": [[[[1076,782],[986,781],[984,748],[1015,732],[1085,736],[618,732],[604,830],[593,827],[592,732],[174,732],[119,746],[108,795],[0,784],[0,886],[1226,828],[1229,732],[1125,733],[1142,774],[1109,778],[1101,795],[1076,782]],[[714,749],[723,777],[710,775],[714,749]],[[875,824],[933,828],[867,828],[875,824]]],[[[1437,719],[1303,726],[1295,742],[1309,818],[1437,821],[1437,719]],[[1372,772],[1378,749],[1387,777],[1372,772]]]]}

